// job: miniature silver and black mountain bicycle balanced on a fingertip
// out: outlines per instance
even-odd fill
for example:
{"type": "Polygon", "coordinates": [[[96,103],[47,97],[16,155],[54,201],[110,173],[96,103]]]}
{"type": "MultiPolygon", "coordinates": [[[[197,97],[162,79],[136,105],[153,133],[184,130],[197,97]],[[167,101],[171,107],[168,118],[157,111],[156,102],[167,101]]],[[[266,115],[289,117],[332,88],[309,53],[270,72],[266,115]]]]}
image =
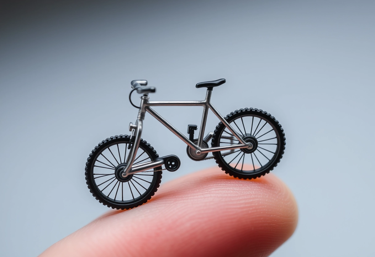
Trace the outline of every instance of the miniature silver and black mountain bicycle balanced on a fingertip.
{"type": "Polygon", "coordinates": [[[207,88],[203,101],[149,101],[148,94],[156,89],[147,86],[146,80],[133,80],[129,101],[139,108],[139,112],[135,124],[129,124],[130,136],[107,138],[95,147],[87,159],[86,183],[93,196],[113,209],[130,209],[147,202],[155,194],[164,170],[162,165],[168,171],[176,171],[180,167],[177,156],[159,157],[154,148],[141,139],[146,112],[187,144],[187,155],[193,160],[213,158],[225,173],[242,179],[257,178],[275,168],[285,149],[281,125],[269,113],[253,108],[236,110],[226,117],[220,115],[210,100],[213,88],[223,83],[225,79],[196,84],[196,88],[207,88]],[[139,107],[130,99],[133,91],[143,94],[139,107]],[[198,138],[194,138],[197,125],[187,126],[187,138],[155,112],[151,108],[153,106],[202,106],[198,138]],[[220,122],[214,132],[204,137],[208,109],[220,122]],[[211,147],[208,147],[210,140],[211,147]],[[213,156],[207,157],[210,152],[213,156]]]}

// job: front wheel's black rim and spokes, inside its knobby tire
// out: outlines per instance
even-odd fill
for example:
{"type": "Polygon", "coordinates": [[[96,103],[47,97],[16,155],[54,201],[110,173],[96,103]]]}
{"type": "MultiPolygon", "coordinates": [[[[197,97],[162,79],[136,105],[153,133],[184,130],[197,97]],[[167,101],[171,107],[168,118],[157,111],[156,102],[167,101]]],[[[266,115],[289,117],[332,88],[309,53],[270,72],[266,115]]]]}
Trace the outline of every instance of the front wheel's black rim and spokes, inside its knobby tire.
{"type": "MultiPolygon", "coordinates": [[[[154,171],[132,174],[129,178],[119,177],[120,170],[126,167],[130,153],[127,142],[114,142],[101,150],[93,160],[92,181],[96,192],[107,201],[115,204],[135,203],[152,190],[156,182],[154,171]]],[[[133,165],[149,162],[153,157],[141,145],[133,165]]]]}

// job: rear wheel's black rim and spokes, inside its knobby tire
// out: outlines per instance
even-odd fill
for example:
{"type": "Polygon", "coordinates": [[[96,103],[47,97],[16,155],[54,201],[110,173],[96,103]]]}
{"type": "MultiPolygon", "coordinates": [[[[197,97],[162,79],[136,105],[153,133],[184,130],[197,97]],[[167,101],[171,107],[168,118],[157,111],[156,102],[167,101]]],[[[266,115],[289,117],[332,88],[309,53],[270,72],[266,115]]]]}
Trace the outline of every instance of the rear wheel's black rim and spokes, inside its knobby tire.
{"type": "MultiPolygon", "coordinates": [[[[252,149],[220,151],[220,159],[228,168],[241,174],[257,174],[273,165],[278,157],[281,141],[275,125],[270,120],[248,114],[228,122],[245,142],[251,142],[254,146],[252,149]]],[[[218,146],[236,144],[240,144],[239,141],[224,127],[219,135],[218,146]]]]}

